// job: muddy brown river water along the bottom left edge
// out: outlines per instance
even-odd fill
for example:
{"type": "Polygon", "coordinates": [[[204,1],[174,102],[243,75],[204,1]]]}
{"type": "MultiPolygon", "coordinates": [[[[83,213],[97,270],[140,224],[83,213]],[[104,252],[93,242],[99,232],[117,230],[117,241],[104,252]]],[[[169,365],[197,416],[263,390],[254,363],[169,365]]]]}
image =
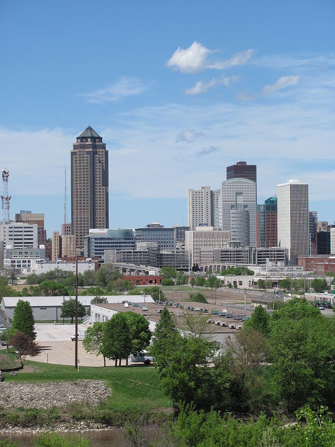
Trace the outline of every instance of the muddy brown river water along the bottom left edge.
{"type": "MultiPolygon", "coordinates": [[[[80,438],[89,437],[93,446],[99,447],[120,447],[127,445],[123,429],[87,431],[84,433],[70,432],[60,433],[60,435],[73,435],[80,438]]],[[[8,435],[0,433],[0,441],[8,438],[10,441],[15,441],[18,447],[31,447],[39,436],[41,436],[41,433],[8,433],[8,435]]]]}

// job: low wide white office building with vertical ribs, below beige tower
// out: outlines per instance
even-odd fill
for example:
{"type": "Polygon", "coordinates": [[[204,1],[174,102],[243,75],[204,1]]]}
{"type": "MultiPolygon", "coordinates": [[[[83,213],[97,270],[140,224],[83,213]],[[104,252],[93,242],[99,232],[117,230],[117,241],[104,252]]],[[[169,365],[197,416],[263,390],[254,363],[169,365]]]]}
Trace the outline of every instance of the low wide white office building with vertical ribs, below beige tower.
{"type": "Polygon", "coordinates": [[[201,249],[225,248],[230,241],[230,231],[214,230],[212,226],[198,226],[185,232],[185,251],[190,253],[191,266],[200,265],[201,249]]]}

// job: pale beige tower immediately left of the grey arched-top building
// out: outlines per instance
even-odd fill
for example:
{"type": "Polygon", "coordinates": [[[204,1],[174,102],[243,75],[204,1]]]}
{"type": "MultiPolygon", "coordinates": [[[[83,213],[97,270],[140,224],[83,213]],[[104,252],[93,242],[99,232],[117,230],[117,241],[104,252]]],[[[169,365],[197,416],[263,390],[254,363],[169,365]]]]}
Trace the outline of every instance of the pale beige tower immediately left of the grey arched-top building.
{"type": "Polygon", "coordinates": [[[217,229],[217,212],[220,190],[211,191],[209,186],[202,186],[201,191],[188,191],[188,226],[195,231],[197,226],[213,226],[217,229]]]}

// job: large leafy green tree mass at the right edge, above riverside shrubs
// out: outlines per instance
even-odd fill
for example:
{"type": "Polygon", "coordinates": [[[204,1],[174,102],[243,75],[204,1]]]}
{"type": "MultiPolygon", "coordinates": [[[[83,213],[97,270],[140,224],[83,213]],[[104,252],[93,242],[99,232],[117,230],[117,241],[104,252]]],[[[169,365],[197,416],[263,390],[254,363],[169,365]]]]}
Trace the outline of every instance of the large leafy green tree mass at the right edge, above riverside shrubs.
{"type": "Polygon", "coordinates": [[[334,319],[294,298],[270,320],[274,390],[288,410],[335,401],[334,319]]]}

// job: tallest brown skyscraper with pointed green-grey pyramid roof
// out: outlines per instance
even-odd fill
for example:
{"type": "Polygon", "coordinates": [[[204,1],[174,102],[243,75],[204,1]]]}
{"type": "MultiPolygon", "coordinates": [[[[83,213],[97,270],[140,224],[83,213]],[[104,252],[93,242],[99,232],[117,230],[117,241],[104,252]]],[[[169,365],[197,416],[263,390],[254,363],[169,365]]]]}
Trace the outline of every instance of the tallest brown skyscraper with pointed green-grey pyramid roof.
{"type": "Polygon", "coordinates": [[[91,126],[71,150],[71,224],[78,251],[90,228],[108,228],[108,150],[91,126]]]}

